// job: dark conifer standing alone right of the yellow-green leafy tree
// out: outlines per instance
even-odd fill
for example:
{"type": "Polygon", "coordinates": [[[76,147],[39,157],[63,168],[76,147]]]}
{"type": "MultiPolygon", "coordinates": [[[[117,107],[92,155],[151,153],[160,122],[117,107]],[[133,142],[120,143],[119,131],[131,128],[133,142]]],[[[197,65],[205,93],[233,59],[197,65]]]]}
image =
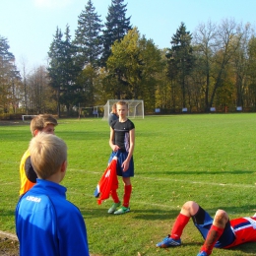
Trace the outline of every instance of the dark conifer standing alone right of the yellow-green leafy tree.
{"type": "Polygon", "coordinates": [[[166,57],[168,59],[168,76],[175,78],[182,93],[182,107],[186,107],[187,79],[192,71],[194,56],[191,45],[192,35],[186,32],[184,23],[181,23],[179,29],[171,37],[171,48],[166,57]]]}

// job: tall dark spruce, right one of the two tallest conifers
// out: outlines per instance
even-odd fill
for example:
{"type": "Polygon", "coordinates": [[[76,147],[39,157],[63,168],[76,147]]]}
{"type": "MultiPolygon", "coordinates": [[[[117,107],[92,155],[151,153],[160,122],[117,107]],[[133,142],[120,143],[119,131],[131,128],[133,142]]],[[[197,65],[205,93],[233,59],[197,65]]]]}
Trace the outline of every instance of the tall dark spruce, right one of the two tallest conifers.
{"type": "Polygon", "coordinates": [[[101,58],[103,66],[111,54],[111,46],[114,41],[120,41],[128,31],[132,30],[131,17],[126,18],[126,6],[127,4],[123,4],[123,0],[112,0],[108,7],[106,29],[103,31],[103,54],[101,58]]]}

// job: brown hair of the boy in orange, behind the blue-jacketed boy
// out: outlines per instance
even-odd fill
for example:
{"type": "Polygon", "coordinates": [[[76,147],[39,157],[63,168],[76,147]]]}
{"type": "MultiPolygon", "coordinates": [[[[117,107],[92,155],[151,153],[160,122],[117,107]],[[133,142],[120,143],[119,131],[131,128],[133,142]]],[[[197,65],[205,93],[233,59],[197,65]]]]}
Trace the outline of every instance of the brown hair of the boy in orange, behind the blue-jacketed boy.
{"type": "Polygon", "coordinates": [[[38,114],[33,117],[31,121],[32,136],[34,136],[35,130],[42,131],[48,124],[58,125],[57,120],[51,114],[38,114]]]}

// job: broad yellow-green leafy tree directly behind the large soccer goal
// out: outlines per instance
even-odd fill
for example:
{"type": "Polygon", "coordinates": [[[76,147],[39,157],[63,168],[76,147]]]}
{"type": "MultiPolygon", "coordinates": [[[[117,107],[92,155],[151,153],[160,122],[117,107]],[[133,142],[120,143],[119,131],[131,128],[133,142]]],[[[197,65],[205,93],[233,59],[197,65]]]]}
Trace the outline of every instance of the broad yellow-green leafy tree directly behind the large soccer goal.
{"type": "Polygon", "coordinates": [[[144,98],[155,106],[156,74],[160,71],[160,50],[152,40],[140,37],[137,28],[115,41],[107,62],[107,88],[115,98],[144,98]],[[147,99],[146,99],[147,98],[147,99]]]}

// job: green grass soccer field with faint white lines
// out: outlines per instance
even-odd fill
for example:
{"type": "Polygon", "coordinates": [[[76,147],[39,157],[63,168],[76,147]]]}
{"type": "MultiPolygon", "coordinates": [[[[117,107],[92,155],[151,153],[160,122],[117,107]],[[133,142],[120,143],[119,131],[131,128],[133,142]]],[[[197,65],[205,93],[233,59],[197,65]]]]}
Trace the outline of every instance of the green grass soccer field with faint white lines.
{"type": "MultiPolygon", "coordinates": [[[[107,214],[111,200],[96,204],[94,191],[110,148],[106,121],[60,119],[56,135],[68,145],[68,171],[62,185],[87,224],[94,255],[197,255],[203,239],[192,222],[182,246],[155,244],[170,231],[180,207],[194,200],[214,215],[223,208],[230,218],[256,212],[256,114],[146,116],[136,126],[135,177],[131,212],[107,214]]],[[[19,163],[31,139],[29,124],[0,126],[0,229],[15,233],[19,199],[19,163]]],[[[119,195],[123,185],[120,180],[119,195]]],[[[72,220],[71,220],[72,222],[72,220]]],[[[255,243],[213,255],[256,255],[255,243]]]]}

